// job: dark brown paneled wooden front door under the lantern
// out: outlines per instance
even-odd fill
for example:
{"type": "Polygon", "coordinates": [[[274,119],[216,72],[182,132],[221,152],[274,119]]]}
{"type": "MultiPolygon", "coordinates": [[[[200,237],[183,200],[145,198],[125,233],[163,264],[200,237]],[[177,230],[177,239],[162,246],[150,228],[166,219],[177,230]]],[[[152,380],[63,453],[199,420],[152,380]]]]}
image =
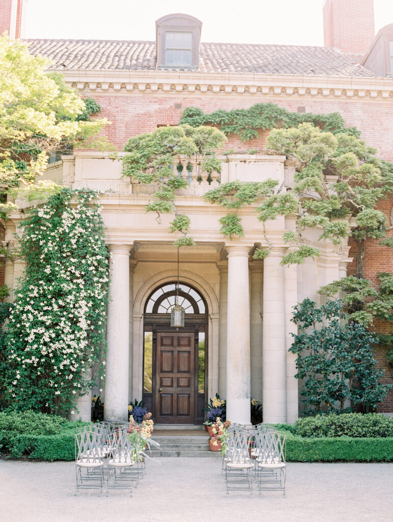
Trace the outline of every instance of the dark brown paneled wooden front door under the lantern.
{"type": "Polygon", "coordinates": [[[194,333],[157,333],[156,422],[193,424],[196,402],[194,333]]]}

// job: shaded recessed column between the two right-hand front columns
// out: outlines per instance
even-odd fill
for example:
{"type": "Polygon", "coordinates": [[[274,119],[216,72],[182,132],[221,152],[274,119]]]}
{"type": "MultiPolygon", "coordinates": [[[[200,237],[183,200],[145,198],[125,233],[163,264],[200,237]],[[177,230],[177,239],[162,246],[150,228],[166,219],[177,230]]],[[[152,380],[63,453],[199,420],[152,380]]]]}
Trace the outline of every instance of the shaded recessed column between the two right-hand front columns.
{"type": "Polygon", "coordinates": [[[263,263],[249,265],[250,277],[250,341],[251,341],[251,397],[262,400],[262,283],[263,263]]]}

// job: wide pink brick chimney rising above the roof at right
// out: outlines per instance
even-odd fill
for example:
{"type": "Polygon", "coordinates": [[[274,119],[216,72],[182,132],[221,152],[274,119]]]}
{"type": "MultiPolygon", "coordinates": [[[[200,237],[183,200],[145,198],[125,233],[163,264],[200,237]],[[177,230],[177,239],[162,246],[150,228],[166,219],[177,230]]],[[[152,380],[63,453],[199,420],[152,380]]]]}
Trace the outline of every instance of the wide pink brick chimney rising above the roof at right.
{"type": "Polygon", "coordinates": [[[325,47],[364,54],[375,36],[374,0],[325,0],[325,47]]]}

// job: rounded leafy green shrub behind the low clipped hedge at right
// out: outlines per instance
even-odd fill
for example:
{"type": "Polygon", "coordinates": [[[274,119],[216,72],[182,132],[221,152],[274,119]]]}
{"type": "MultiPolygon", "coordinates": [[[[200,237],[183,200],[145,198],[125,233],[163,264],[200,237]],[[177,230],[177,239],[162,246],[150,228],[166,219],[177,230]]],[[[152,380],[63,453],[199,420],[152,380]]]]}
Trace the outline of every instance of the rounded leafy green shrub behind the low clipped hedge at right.
{"type": "Polygon", "coordinates": [[[378,413],[316,415],[298,419],[294,433],[302,437],[393,437],[393,418],[378,413]]]}

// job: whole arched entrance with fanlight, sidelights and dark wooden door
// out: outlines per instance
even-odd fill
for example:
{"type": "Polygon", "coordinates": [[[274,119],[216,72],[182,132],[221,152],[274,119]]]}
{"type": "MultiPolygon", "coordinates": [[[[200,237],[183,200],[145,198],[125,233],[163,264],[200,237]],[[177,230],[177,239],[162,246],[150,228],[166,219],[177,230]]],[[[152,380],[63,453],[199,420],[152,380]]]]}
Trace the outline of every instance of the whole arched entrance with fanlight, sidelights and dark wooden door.
{"type": "Polygon", "coordinates": [[[207,386],[208,310],[203,296],[180,283],[184,328],[171,328],[176,283],[154,289],[144,309],[143,400],[157,423],[201,424],[207,386]]]}

